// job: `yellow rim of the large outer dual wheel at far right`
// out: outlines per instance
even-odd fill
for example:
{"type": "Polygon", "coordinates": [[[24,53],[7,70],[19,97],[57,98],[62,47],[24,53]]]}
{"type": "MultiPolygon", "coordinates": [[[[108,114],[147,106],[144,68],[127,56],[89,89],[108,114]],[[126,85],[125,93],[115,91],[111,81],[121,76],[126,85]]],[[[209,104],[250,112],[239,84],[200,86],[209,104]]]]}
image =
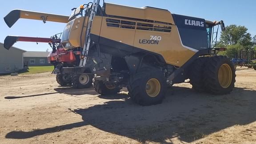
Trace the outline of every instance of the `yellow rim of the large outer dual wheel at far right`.
{"type": "Polygon", "coordinates": [[[228,88],[232,82],[232,69],[228,64],[222,64],[218,72],[219,83],[222,88],[228,88]]]}

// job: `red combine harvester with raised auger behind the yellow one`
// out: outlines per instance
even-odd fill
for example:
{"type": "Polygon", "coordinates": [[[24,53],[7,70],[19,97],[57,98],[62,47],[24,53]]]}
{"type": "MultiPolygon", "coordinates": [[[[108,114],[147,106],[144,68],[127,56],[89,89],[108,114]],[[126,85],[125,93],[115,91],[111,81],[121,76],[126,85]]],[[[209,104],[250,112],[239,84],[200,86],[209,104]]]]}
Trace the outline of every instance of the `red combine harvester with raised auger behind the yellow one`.
{"type": "Polygon", "coordinates": [[[48,43],[52,52],[48,55],[48,63],[54,65],[56,81],[62,86],[71,85],[74,88],[89,88],[92,86],[93,75],[80,74],[74,76],[72,73],[64,73],[63,67],[74,67],[80,63],[80,50],[65,50],[62,48],[60,36],[62,33],[51,36],[51,38],[25,37],[25,36],[7,36],[4,40],[4,48],[10,49],[17,41],[48,43]],[[85,78],[84,78],[85,77],[85,78]],[[87,78],[89,79],[87,80],[87,78]]]}

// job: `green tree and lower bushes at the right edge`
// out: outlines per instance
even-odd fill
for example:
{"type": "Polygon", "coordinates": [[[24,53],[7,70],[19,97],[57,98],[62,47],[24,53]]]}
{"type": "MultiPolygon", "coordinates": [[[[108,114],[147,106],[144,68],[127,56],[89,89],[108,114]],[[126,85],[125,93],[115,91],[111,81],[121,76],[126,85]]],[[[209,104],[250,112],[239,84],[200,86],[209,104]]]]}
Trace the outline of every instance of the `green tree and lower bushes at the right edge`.
{"type": "Polygon", "coordinates": [[[227,48],[227,51],[219,52],[218,54],[229,58],[239,58],[241,51],[256,52],[256,35],[252,37],[245,26],[232,24],[221,32],[220,40],[216,46],[227,48]]]}

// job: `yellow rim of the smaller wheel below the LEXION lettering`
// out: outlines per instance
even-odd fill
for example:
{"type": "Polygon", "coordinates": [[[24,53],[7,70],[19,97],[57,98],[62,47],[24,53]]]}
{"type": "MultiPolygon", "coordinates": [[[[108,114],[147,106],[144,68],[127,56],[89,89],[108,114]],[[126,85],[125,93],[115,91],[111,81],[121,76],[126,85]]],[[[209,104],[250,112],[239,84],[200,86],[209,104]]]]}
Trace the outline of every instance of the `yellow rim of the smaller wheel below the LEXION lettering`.
{"type": "Polygon", "coordinates": [[[146,84],[146,92],[150,97],[156,97],[160,92],[160,82],[157,79],[150,79],[146,84]]]}

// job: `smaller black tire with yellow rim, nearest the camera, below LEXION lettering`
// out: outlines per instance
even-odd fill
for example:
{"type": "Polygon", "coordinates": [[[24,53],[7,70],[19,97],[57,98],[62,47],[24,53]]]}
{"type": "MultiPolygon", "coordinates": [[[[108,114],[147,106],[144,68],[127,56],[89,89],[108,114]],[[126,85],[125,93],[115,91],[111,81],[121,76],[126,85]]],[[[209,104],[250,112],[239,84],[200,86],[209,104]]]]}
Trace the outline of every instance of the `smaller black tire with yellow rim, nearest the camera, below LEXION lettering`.
{"type": "Polygon", "coordinates": [[[162,103],[167,89],[164,72],[144,69],[129,80],[129,96],[135,103],[147,106],[162,103]]]}

